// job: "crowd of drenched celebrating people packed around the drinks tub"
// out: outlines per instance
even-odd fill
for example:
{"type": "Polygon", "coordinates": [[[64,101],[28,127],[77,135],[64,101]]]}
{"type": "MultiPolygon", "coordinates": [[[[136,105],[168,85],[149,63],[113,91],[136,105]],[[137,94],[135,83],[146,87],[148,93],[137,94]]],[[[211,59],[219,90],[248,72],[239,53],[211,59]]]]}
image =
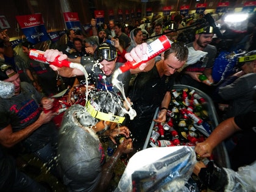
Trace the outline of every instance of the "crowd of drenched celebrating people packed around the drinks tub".
{"type": "MultiPolygon", "coordinates": [[[[158,107],[154,121],[166,121],[171,90],[176,84],[207,93],[218,112],[220,124],[207,140],[196,144],[197,155],[210,157],[213,149],[226,141],[233,171],[254,163],[255,17],[249,18],[247,32],[228,26],[220,30],[206,12],[197,20],[194,15],[157,16],[151,21],[151,27],[145,20],[134,26],[110,20],[106,28],[98,26],[92,18],[92,35],[69,29],[68,41],[62,49],[44,50],[50,65],[29,58],[25,62],[12,49],[7,30],[0,32],[0,191],[51,190],[19,171],[14,159],[23,154],[33,154],[46,163],[51,174],[68,191],[106,190],[118,158],[126,154],[129,160],[143,149],[158,107]],[[141,62],[148,57],[148,44],[161,35],[168,37],[169,49],[137,68],[119,73],[116,78],[115,72],[124,63],[141,62]],[[231,42],[229,46],[225,43],[227,40],[231,42]],[[237,44],[243,49],[242,54],[237,54],[241,52],[238,47],[234,50],[237,44]],[[220,67],[216,58],[221,51],[227,52],[227,58],[233,55],[237,61],[230,75],[216,82],[213,68],[220,67]],[[195,52],[204,52],[204,57],[188,62],[195,52]],[[56,58],[60,62],[78,63],[88,78],[81,68],[54,65],[56,58]],[[200,75],[208,80],[202,81],[200,75]],[[116,86],[116,81],[121,82],[121,88],[116,86]],[[1,86],[13,90],[12,93],[5,93],[1,86]],[[52,110],[55,104],[52,96],[63,90],[67,109],[58,127],[52,121],[57,114],[52,110]],[[87,99],[82,102],[85,106],[79,104],[80,95],[86,95],[82,97],[87,99]],[[126,138],[123,143],[115,140],[120,135],[126,138]],[[102,137],[110,138],[116,145],[107,161],[102,137]],[[233,146],[228,145],[230,142],[233,146]],[[13,155],[17,149],[19,154],[13,155]]],[[[34,48],[28,41],[21,46],[27,57],[34,48]]],[[[222,179],[216,185],[209,182],[216,181],[215,177],[205,179],[205,175],[210,175],[208,172],[214,171],[214,166],[208,165],[210,171],[206,166],[199,163],[194,169],[202,183],[212,190],[223,191],[229,186],[230,179],[225,173],[229,171],[221,168],[222,179]]],[[[240,179],[243,180],[243,176],[240,179]]]]}

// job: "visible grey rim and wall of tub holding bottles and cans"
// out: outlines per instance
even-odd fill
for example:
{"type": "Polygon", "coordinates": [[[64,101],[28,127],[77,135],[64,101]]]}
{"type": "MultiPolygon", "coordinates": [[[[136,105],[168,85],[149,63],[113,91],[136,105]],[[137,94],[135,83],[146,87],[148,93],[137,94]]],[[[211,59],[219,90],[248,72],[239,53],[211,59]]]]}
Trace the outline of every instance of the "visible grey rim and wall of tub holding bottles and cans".
{"type": "MultiPolygon", "coordinates": [[[[207,112],[208,116],[210,118],[210,121],[212,122],[212,127],[215,129],[216,126],[218,126],[218,115],[216,113],[215,106],[213,104],[212,99],[202,92],[201,90],[198,90],[197,88],[190,87],[188,85],[174,85],[173,89],[176,89],[177,91],[182,90],[183,88],[189,88],[190,90],[195,90],[195,93],[201,95],[205,101],[207,101],[207,112]]],[[[157,117],[158,114],[158,108],[155,110],[154,119],[157,117]]],[[[152,130],[154,128],[155,122],[152,121],[151,127],[148,132],[148,136],[146,138],[146,142],[144,143],[143,149],[150,148],[151,145],[149,145],[149,138],[151,137],[152,130]]],[[[229,162],[229,156],[227,155],[227,149],[224,145],[224,143],[219,144],[214,150],[213,150],[213,157],[216,163],[218,165],[223,166],[225,168],[230,168],[230,162],[229,162]]]]}

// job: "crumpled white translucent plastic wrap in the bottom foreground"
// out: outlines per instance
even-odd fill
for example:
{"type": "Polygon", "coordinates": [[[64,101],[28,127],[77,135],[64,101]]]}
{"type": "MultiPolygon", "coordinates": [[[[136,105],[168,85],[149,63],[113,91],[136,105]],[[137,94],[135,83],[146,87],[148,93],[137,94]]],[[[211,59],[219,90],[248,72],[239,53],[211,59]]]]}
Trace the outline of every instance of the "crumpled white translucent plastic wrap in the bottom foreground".
{"type": "Polygon", "coordinates": [[[148,148],[130,158],[118,191],[189,191],[185,187],[196,164],[189,146],[148,148]]]}

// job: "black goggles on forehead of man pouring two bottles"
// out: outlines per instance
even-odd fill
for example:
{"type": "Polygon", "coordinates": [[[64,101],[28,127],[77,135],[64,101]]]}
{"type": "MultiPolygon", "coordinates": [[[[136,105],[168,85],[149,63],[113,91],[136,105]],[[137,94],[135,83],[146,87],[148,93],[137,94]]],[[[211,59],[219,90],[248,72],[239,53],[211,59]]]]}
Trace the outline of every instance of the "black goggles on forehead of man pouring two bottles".
{"type": "Polygon", "coordinates": [[[99,60],[99,62],[102,62],[102,60],[107,60],[108,62],[116,59],[116,48],[113,46],[110,47],[109,44],[104,43],[104,45],[99,46],[95,51],[94,51],[94,60],[99,60]]]}

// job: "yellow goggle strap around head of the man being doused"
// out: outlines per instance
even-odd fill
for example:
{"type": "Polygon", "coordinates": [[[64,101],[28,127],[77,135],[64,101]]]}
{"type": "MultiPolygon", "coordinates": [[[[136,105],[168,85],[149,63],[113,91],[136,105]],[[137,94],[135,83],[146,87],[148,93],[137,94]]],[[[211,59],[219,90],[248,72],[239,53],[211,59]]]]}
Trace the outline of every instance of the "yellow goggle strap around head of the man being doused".
{"type": "Polygon", "coordinates": [[[123,123],[125,119],[125,117],[123,116],[111,115],[108,113],[103,113],[103,112],[99,112],[98,110],[95,110],[95,108],[90,104],[90,101],[87,101],[87,103],[85,104],[85,108],[87,108],[87,112],[90,113],[91,116],[97,119],[101,119],[103,121],[123,123]]]}

